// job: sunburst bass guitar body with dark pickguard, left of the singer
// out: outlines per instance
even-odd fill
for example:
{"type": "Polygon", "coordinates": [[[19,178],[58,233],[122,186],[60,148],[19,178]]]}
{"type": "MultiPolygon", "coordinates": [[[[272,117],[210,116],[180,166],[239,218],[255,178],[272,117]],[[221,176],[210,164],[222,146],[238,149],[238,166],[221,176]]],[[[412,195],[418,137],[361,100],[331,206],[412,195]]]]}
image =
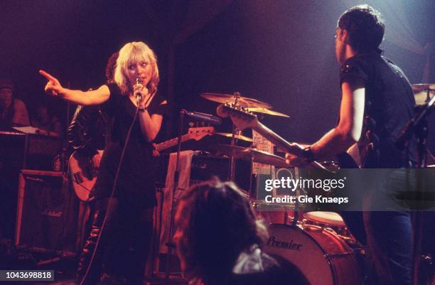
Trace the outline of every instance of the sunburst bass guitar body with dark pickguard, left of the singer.
{"type": "Polygon", "coordinates": [[[94,198],[93,190],[97,181],[98,168],[102,151],[97,154],[87,155],[80,151],[74,151],[68,161],[70,178],[77,198],[82,202],[89,202],[94,198]]]}

